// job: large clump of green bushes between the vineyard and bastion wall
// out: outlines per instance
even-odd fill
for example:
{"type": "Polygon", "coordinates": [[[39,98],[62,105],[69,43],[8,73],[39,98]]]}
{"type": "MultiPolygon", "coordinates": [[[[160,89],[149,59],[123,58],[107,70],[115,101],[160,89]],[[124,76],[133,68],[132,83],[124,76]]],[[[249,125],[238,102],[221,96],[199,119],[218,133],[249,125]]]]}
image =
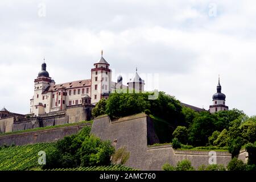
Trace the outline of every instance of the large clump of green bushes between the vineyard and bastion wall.
{"type": "Polygon", "coordinates": [[[110,164],[114,147],[110,141],[89,135],[90,127],[84,127],[78,134],[65,137],[56,143],[55,150],[47,155],[44,168],[76,168],[104,166],[110,164]]]}

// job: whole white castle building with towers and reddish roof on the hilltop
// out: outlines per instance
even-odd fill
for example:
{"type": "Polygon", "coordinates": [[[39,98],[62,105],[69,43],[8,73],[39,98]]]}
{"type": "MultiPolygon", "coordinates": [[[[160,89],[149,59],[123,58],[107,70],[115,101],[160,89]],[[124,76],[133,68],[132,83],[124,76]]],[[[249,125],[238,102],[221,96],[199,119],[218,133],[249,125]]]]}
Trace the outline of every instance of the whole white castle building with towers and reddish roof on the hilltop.
{"type": "Polygon", "coordinates": [[[116,89],[133,89],[144,91],[144,80],[136,73],[126,85],[122,84],[122,76],[117,82],[112,81],[110,64],[101,58],[91,69],[91,78],[55,84],[46,70],[46,63],[34,80],[34,96],[30,100],[30,114],[39,116],[53,111],[65,110],[67,107],[78,105],[95,105],[101,98],[108,98],[116,89]]]}

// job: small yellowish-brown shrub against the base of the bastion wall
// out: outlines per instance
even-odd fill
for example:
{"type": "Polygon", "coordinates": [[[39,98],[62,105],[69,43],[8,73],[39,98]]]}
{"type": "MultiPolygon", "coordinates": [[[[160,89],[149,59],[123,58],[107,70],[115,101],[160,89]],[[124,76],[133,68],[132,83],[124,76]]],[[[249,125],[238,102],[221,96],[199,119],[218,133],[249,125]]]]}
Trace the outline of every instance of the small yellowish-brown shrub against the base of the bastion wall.
{"type": "Polygon", "coordinates": [[[116,165],[125,164],[129,157],[130,152],[127,151],[126,146],[121,147],[117,151],[115,151],[115,154],[113,154],[112,163],[116,165]]]}

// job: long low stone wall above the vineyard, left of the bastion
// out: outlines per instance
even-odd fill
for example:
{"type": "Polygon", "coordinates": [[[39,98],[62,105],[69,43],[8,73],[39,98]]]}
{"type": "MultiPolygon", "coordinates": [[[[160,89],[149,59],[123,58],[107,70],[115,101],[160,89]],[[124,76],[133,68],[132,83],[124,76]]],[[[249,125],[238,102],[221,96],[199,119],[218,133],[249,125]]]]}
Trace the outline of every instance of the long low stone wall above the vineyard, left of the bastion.
{"type": "Polygon", "coordinates": [[[27,133],[19,133],[12,135],[0,136],[0,146],[6,145],[24,145],[40,142],[56,142],[59,139],[64,138],[67,135],[76,134],[84,126],[90,126],[90,123],[81,123],[77,126],[65,126],[53,129],[47,129],[43,131],[31,131],[27,133]]]}

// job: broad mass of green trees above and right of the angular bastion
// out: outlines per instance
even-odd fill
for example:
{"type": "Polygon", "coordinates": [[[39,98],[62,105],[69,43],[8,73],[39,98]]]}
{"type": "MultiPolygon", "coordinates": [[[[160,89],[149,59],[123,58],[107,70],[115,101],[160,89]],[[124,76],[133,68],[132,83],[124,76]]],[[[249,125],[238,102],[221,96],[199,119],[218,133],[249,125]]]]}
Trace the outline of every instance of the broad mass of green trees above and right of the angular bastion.
{"type": "Polygon", "coordinates": [[[180,143],[193,147],[226,147],[233,157],[238,155],[242,146],[255,142],[255,116],[249,118],[237,109],[214,114],[206,110],[197,112],[181,106],[175,97],[164,92],[159,92],[156,100],[148,100],[150,94],[110,94],[108,100],[96,105],[94,116],[106,113],[111,118],[119,118],[145,112],[153,119],[160,143],[170,143],[176,138],[177,147],[180,143]]]}

